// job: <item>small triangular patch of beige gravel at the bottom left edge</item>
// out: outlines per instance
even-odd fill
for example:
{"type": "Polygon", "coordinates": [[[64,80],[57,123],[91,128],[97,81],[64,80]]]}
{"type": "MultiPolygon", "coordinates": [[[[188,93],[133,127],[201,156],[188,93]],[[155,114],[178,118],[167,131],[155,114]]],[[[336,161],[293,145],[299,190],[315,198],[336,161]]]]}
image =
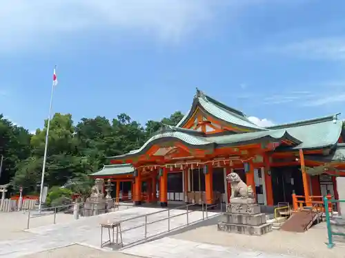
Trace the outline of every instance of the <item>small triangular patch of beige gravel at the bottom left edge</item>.
{"type": "Polygon", "coordinates": [[[73,244],[71,246],[37,252],[33,255],[25,255],[22,258],[136,258],[137,256],[125,255],[121,252],[98,250],[88,246],[73,244]]]}

